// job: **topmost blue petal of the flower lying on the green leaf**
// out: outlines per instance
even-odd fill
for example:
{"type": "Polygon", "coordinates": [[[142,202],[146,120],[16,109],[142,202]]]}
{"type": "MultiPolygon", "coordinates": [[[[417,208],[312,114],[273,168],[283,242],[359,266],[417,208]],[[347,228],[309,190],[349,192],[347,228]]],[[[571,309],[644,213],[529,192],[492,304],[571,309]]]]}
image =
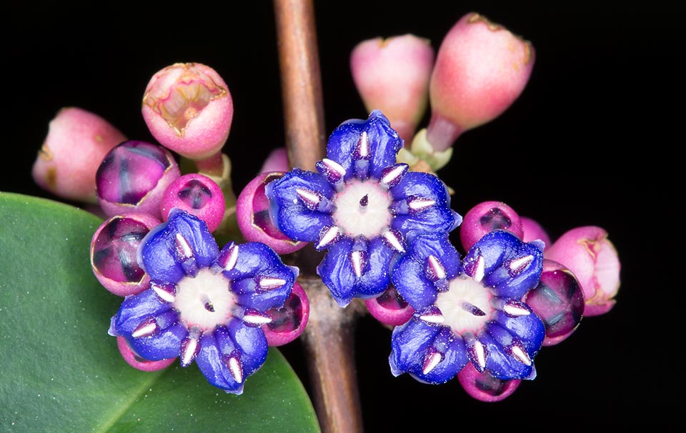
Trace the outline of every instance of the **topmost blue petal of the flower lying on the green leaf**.
{"type": "Polygon", "coordinates": [[[218,253],[217,242],[202,219],[172,209],[169,220],[152,229],[141,241],[138,262],[152,281],[176,284],[187,274],[208,267],[218,253]],[[184,261],[177,234],[188,243],[192,258],[184,261]]]}

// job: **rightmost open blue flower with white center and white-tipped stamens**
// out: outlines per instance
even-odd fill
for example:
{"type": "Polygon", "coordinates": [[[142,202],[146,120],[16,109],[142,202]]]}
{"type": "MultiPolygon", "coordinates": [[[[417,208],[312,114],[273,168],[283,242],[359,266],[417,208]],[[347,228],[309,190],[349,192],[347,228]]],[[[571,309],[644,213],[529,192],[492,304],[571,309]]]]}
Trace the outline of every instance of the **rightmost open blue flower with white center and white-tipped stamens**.
{"type": "Polygon", "coordinates": [[[393,284],[415,312],[392,333],[392,373],[440,384],[471,362],[497,379],[533,379],[545,327],[521,299],[542,263],[540,242],[504,230],[485,234],[464,260],[444,234],[415,239],[393,267],[393,284]]]}

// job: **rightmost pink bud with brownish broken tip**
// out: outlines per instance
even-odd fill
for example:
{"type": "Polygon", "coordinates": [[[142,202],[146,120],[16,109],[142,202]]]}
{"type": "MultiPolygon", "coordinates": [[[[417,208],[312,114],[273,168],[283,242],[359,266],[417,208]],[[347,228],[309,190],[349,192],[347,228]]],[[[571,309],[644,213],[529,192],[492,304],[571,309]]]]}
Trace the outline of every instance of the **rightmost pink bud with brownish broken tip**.
{"type": "Polygon", "coordinates": [[[545,250],[545,258],[574,272],[584,291],[585,316],[605,314],[620,289],[620,258],[601,227],[571,229],[545,250]]]}

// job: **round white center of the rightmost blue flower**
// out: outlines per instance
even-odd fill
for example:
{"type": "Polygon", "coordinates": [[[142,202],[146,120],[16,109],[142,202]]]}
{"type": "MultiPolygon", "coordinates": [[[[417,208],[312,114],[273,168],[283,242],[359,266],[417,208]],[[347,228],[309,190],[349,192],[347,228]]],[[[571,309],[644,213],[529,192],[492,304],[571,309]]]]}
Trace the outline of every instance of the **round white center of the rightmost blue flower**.
{"type": "Polygon", "coordinates": [[[447,292],[438,294],[436,307],[443,313],[443,324],[455,334],[478,334],[496,311],[491,307],[492,297],[487,287],[462,274],[450,282],[447,292]]]}

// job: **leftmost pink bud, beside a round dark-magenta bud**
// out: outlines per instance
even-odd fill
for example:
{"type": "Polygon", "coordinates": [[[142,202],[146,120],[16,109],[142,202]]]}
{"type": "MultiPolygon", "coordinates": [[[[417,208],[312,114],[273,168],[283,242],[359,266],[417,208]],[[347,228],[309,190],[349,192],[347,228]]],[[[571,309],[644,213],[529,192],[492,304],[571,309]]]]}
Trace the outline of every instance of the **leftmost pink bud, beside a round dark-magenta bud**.
{"type": "Polygon", "coordinates": [[[63,199],[96,202],[95,171],[124,134],[84,109],[64,108],[50,121],[31,175],[42,189],[63,199]]]}

